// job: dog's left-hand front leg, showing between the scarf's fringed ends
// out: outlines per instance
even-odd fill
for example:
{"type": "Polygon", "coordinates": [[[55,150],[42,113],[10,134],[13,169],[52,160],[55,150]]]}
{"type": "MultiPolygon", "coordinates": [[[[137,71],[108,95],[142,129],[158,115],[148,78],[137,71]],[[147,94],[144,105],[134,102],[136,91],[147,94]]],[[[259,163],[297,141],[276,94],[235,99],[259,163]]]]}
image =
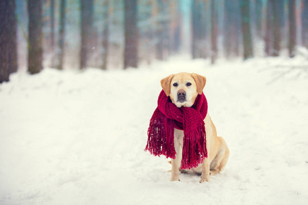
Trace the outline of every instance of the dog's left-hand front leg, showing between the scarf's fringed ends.
{"type": "Polygon", "coordinates": [[[177,154],[175,155],[175,159],[171,159],[171,182],[173,181],[179,181],[179,167],[181,166],[181,160],[182,160],[182,149],[183,149],[183,131],[179,131],[178,129],[175,129],[175,152],[177,154]]]}

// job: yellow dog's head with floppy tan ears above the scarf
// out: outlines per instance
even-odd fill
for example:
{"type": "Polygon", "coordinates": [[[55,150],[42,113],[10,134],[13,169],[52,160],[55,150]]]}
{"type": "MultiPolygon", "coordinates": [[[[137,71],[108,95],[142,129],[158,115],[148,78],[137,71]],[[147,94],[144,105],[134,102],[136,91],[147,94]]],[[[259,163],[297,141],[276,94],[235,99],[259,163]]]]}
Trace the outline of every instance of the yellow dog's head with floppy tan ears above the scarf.
{"type": "Polygon", "coordinates": [[[199,74],[180,72],[170,74],[160,83],[166,96],[170,96],[177,107],[192,107],[196,96],[202,94],[206,81],[205,77],[199,74]]]}

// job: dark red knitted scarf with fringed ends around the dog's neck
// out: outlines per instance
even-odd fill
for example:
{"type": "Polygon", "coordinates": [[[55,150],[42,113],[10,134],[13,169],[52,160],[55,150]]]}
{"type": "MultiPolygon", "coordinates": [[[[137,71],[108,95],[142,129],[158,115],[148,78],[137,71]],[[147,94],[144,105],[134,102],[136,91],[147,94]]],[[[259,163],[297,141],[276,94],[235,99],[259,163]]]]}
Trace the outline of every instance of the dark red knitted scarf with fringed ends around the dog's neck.
{"type": "Polygon", "coordinates": [[[175,128],[184,131],[181,169],[197,167],[207,157],[205,123],[207,99],[198,95],[192,107],[178,108],[164,90],[160,92],[157,108],[150,120],[148,142],[144,151],[175,159],[175,128]]]}

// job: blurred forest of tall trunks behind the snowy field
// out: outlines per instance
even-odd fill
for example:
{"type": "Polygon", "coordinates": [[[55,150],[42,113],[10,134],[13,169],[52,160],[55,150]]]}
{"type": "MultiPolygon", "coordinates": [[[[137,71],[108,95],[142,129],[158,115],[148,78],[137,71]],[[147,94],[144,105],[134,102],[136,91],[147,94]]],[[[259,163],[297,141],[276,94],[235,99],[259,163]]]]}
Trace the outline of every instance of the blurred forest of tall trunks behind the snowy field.
{"type": "Polygon", "coordinates": [[[12,72],[138,68],[172,55],[248,59],[308,48],[308,0],[1,0],[0,83],[12,72]]]}

